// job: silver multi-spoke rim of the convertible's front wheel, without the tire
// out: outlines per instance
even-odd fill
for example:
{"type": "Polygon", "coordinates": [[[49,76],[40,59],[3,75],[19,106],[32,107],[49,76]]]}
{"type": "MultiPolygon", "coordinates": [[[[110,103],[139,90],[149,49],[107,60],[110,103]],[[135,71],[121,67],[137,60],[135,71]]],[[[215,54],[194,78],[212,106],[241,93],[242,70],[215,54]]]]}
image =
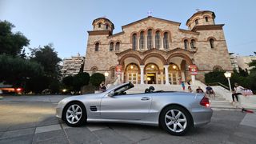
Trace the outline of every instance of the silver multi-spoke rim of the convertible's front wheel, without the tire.
{"type": "Polygon", "coordinates": [[[74,104],[66,110],[66,120],[70,124],[76,124],[82,118],[82,109],[80,106],[74,104]]]}

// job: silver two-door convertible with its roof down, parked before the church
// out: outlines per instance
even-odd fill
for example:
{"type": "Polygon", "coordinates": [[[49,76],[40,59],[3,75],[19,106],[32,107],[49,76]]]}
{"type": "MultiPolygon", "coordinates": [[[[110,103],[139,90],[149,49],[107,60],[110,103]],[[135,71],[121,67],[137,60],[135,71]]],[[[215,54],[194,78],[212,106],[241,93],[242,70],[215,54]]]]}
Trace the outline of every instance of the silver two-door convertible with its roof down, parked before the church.
{"type": "Polygon", "coordinates": [[[193,126],[210,122],[213,110],[203,94],[148,89],[141,94],[126,94],[130,82],[98,94],[64,98],[56,115],[68,126],[84,122],[124,122],[161,126],[174,135],[186,134],[193,126]]]}

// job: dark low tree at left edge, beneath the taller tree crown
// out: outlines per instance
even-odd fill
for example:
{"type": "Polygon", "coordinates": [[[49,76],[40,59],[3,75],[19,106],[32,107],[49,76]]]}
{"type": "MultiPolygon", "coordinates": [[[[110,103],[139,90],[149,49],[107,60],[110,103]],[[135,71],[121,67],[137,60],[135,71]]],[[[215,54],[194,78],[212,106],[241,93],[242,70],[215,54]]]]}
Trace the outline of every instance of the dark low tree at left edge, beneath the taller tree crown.
{"type": "Polygon", "coordinates": [[[0,54],[0,72],[0,82],[18,87],[25,85],[27,79],[41,75],[43,68],[37,62],[0,54]]]}

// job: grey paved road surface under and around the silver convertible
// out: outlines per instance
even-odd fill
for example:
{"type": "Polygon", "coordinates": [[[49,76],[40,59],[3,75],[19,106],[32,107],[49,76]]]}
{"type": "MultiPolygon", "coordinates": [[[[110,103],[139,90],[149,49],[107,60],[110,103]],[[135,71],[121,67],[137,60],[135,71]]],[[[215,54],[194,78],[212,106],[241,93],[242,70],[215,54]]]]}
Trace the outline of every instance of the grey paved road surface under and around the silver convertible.
{"type": "Polygon", "coordinates": [[[0,143],[255,143],[256,114],[214,110],[211,122],[182,137],[154,126],[87,123],[78,128],[55,118],[62,96],[0,100],[0,143]]]}

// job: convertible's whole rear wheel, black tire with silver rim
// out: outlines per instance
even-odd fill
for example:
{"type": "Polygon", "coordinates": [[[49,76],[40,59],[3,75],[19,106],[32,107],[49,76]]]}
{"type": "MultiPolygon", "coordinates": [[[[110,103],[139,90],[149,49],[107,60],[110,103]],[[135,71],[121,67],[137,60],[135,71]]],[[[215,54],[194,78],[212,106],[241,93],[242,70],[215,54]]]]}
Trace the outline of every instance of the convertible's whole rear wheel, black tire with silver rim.
{"type": "Polygon", "coordinates": [[[159,122],[160,126],[168,133],[178,136],[186,134],[186,132],[193,126],[189,112],[182,106],[175,105],[167,106],[162,110],[159,122]]]}

